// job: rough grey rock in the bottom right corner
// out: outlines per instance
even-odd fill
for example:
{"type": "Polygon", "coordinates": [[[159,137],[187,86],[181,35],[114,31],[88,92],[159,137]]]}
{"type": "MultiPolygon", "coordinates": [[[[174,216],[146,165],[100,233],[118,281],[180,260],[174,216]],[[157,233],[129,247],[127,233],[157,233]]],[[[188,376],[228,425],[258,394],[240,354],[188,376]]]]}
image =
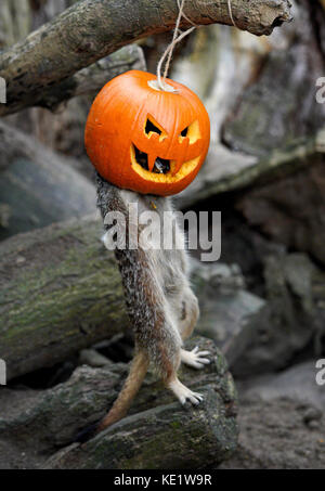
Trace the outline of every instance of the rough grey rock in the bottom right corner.
{"type": "Polygon", "coordinates": [[[325,392],[315,362],[238,385],[239,445],[221,468],[325,467],[325,392]]]}

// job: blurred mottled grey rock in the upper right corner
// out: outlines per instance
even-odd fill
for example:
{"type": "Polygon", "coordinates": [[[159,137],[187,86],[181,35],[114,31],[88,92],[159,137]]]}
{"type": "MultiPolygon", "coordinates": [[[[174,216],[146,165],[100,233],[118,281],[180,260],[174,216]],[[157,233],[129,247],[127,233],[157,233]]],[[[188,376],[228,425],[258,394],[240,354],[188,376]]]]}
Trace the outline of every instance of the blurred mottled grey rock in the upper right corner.
{"type": "Polygon", "coordinates": [[[239,152],[268,155],[324,125],[324,104],[315,103],[315,81],[324,75],[324,59],[314,28],[317,22],[322,31],[324,18],[308,0],[294,3],[295,22],[266,41],[264,63],[225,121],[223,140],[239,152]]]}

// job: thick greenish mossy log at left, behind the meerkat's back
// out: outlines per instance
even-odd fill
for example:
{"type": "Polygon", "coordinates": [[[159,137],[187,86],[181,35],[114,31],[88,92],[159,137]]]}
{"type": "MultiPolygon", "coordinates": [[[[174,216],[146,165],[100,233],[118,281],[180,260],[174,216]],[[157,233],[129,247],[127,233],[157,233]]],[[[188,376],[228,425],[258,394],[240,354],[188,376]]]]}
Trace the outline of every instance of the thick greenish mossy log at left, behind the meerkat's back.
{"type": "Polygon", "coordinates": [[[93,217],[0,244],[0,358],[11,379],[128,325],[120,275],[93,217]]]}

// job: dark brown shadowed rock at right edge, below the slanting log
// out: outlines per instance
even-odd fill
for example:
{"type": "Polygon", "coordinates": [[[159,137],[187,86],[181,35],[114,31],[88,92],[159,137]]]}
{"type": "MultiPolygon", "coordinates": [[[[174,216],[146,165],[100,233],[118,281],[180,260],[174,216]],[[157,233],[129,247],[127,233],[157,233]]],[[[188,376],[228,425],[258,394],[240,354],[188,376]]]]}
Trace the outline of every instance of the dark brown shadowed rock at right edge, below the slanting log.
{"type": "MultiPolygon", "coordinates": [[[[324,143],[324,131],[322,140],[324,143]]],[[[307,168],[246,192],[236,206],[250,225],[287,248],[309,253],[324,264],[324,156],[311,154],[306,161],[307,168]]]]}

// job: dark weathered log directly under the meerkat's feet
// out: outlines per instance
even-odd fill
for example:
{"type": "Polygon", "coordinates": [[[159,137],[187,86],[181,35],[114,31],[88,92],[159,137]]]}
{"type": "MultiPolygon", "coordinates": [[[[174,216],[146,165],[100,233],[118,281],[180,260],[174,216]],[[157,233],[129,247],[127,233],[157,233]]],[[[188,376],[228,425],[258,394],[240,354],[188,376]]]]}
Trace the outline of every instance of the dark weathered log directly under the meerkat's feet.
{"type": "Polygon", "coordinates": [[[204,338],[192,339],[187,348],[197,344],[211,351],[211,365],[202,372],[184,367],[180,376],[204,395],[202,404],[184,411],[179,402],[170,403],[172,396],[161,391],[161,386],[157,393],[155,385],[147,383],[142,398],[146,396],[148,404],[142,405],[143,412],[126,417],[84,444],[63,449],[44,468],[193,469],[226,460],[237,444],[236,390],[220,351],[204,338]],[[169,403],[164,404],[161,396],[169,403]],[[150,402],[153,399],[154,404],[150,402]],[[156,406],[158,401],[164,405],[156,406]]]}

